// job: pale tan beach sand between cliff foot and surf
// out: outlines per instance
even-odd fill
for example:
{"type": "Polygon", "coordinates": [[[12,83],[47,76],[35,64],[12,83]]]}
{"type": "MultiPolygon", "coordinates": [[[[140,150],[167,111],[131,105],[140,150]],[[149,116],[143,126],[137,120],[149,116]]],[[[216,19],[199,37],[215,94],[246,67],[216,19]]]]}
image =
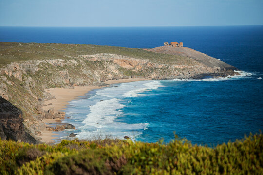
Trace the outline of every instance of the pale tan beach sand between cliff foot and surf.
{"type": "MultiPolygon", "coordinates": [[[[133,82],[133,81],[144,81],[144,80],[151,80],[146,78],[128,78],[128,79],[119,79],[119,80],[108,80],[105,83],[106,84],[117,84],[117,83],[126,83],[126,82],[133,82]]],[[[70,101],[78,98],[79,96],[83,96],[86,93],[88,93],[91,90],[103,88],[101,86],[75,86],[74,88],[50,88],[45,89],[46,92],[49,92],[51,95],[55,96],[55,99],[47,100],[44,102],[43,110],[48,110],[50,108],[54,108],[54,112],[63,111],[69,104],[70,101]],[[48,105],[52,103],[52,105],[48,105]]],[[[45,123],[54,123],[54,122],[61,122],[61,120],[55,120],[55,119],[44,119],[43,122],[45,123]]],[[[57,137],[54,137],[53,131],[49,130],[41,130],[42,136],[39,136],[42,138],[42,142],[45,143],[51,143],[54,142],[52,139],[56,139],[57,137]]]]}

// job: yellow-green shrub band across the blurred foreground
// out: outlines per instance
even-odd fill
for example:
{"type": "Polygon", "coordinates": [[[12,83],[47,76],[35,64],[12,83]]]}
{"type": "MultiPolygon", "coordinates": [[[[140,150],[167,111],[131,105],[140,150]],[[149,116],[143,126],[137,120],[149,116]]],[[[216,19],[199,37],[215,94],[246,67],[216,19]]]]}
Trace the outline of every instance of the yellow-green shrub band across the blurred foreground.
{"type": "Polygon", "coordinates": [[[263,172],[263,135],[215,148],[187,140],[168,144],[63,140],[53,146],[1,140],[0,165],[2,175],[259,175],[263,172]]]}

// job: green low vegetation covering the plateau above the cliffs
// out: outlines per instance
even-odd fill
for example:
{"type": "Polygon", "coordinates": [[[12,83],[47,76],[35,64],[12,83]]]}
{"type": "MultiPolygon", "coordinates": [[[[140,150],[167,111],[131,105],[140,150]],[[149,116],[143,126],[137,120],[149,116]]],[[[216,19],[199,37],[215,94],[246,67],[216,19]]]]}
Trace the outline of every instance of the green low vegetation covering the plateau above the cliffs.
{"type": "MultiPolygon", "coordinates": [[[[184,63],[185,57],[154,53],[138,48],[99,46],[90,44],[12,43],[0,42],[0,67],[28,60],[72,59],[79,55],[110,53],[162,64],[184,63]]],[[[188,62],[188,61],[187,61],[188,62]]]]}

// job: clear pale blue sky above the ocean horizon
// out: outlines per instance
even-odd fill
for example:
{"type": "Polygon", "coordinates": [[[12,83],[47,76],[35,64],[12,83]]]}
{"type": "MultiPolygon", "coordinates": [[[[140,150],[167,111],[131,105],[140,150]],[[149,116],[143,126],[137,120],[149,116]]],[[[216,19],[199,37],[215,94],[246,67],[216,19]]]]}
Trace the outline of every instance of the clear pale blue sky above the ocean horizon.
{"type": "Polygon", "coordinates": [[[0,26],[263,25],[263,0],[0,0],[0,26]]]}

